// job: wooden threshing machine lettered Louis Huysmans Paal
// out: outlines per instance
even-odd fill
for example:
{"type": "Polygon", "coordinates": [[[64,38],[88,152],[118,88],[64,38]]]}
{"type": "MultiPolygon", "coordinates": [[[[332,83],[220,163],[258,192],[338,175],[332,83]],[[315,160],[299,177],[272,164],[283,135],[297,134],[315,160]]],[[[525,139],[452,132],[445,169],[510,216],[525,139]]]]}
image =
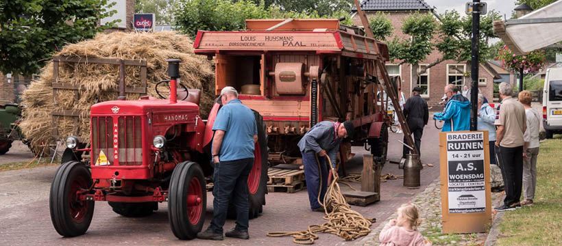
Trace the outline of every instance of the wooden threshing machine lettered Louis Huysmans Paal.
{"type": "MultiPolygon", "coordinates": [[[[339,158],[365,146],[385,158],[391,119],[378,92],[391,90],[387,45],[338,19],[246,20],[245,31],[199,31],[195,53],[215,58],[216,94],[241,92],[244,105],[263,115],[269,161],[300,164],[297,141],[322,120],[351,120],[354,139],[339,158]],[[379,100],[379,101],[378,101],[379,100]]],[[[345,172],[345,170],[344,170],[345,172]]]]}

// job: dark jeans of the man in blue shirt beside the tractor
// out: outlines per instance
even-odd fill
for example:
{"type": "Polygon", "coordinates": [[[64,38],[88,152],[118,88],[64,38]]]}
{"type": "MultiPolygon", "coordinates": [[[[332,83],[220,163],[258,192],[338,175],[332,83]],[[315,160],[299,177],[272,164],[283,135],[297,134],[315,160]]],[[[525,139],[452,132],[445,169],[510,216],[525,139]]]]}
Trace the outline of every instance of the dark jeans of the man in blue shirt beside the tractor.
{"type": "Polygon", "coordinates": [[[212,221],[210,228],[222,233],[228,204],[232,197],[232,204],[236,208],[236,230],[248,230],[248,175],[252,170],[254,158],[239,159],[236,161],[221,161],[215,163],[215,172],[212,174],[214,187],[212,195],[212,221]]]}

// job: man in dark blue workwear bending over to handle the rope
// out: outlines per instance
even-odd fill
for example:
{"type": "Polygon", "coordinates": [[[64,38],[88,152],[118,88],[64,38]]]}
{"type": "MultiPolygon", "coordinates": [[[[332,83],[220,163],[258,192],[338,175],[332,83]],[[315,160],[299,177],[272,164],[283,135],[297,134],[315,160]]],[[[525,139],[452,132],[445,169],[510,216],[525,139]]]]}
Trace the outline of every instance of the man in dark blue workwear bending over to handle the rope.
{"type": "Polygon", "coordinates": [[[345,137],[352,137],[353,133],[354,126],[350,121],[343,123],[323,121],[315,124],[300,139],[298,146],[302,153],[308,200],[310,200],[310,208],[313,211],[324,211],[324,208],[318,203],[318,192],[320,192],[320,201],[323,201],[326,189],[328,189],[326,156],[330,157],[332,174],[337,177],[336,161],[339,145],[345,137]],[[319,163],[316,161],[316,156],[318,156],[319,163]],[[322,184],[320,184],[320,180],[322,184]]]}

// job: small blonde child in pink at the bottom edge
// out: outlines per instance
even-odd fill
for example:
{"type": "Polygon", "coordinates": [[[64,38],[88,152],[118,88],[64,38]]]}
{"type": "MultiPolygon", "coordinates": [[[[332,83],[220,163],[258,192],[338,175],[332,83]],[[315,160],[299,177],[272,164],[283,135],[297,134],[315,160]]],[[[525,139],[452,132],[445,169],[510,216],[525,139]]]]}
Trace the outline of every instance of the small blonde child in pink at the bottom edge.
{"type": "Polygon", "coordinates": [[[384,225],[378,236],[380,245],[384,246],[430,246],[417,227],[422,223],[414,204],[402,204],[398,208],[398,219],[391,219],[384,225]]]}

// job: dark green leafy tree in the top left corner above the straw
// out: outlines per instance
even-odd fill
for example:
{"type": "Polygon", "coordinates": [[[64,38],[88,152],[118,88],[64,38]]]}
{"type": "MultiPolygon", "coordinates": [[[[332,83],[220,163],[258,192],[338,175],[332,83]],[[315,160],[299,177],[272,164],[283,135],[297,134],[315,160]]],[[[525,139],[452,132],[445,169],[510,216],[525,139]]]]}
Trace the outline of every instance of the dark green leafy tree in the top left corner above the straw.
{"type": "Polygon", "coordinates": [[[114,25],[107,0],[10,0],[0,2],[0,72],[30,75],[64,44],[92,38],[114,25]]]}

